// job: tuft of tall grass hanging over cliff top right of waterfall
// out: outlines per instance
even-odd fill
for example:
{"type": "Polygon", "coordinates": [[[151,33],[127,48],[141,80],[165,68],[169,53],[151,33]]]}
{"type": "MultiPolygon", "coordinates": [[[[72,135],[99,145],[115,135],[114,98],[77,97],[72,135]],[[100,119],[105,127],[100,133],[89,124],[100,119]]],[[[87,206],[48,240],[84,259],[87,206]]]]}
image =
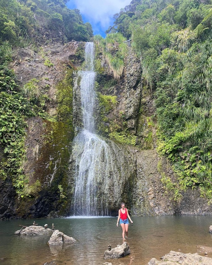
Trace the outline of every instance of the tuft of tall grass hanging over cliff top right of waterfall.
{"type": "Polygon", "coordinates": [[[100,35],[94,36],[94,41],[101,48],[115,79],[119,79],[124,69],[124,58],[127,54],[126,39],[120,33],[107,34],[104,39],[100,35]]]}

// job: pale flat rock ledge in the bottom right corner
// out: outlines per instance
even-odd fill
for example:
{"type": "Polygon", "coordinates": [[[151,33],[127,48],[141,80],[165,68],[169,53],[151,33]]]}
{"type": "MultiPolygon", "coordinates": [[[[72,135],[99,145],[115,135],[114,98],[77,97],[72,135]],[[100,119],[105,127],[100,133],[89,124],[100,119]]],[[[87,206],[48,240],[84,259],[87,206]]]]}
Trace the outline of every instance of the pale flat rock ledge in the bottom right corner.
{"type": "Polygon", "coordinates": [[[169,254],[163,256],[161,260],[152,258],[148,265],[211,265],[212,259],[198,255],[197,253],[181,253],[170,251],[169,254]]]}

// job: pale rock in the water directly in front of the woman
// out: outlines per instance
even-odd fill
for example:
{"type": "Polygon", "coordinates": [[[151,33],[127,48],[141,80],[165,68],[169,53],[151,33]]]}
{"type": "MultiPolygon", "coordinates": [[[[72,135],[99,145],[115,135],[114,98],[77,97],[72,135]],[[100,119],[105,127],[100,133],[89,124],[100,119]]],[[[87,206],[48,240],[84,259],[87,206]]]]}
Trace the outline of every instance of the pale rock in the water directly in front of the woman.
{"type": "Polygon", "coordinates": [[[129,255],[130,249],[127,242],[124,242],[122,245],[117,245],[116,248],[112,248],[111,250],[106,250],[104,258],[105,259],[118,259],[124,256],[129,255]]]}

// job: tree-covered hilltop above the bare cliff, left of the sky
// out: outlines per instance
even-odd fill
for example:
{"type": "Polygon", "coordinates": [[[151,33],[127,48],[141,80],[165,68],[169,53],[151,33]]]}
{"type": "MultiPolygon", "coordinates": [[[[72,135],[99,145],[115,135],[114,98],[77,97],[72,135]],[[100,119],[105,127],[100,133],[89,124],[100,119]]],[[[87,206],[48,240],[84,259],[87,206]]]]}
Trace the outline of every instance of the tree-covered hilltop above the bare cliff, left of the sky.
{"type": "MultiPolygon", "coordinates": [[[[0,0],[0,39],[13,45],[42,40],[48,31],[60,33],[64,41],[88,41],[90,23],[83,23],[78,9],[66,7],[66,0],[0,0]]],[[[51,41],[49,39],[49,41],[51,41]]]]}

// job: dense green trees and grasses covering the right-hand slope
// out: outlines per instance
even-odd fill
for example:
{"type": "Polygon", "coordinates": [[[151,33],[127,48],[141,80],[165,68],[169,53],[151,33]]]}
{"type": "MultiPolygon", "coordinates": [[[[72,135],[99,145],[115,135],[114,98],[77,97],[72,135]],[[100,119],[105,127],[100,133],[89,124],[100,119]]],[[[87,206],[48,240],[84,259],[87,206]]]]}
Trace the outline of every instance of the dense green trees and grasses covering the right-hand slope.
{"type": "MultiPolygon", "coordinates": [[[[197,0],[133,0],[107,33],[132,39],[155,95],[158,152],[180,189],[212,201],[212,5],[197,0]]],[[[176,192],[177,193],[177,192],[176,192]]]]}

